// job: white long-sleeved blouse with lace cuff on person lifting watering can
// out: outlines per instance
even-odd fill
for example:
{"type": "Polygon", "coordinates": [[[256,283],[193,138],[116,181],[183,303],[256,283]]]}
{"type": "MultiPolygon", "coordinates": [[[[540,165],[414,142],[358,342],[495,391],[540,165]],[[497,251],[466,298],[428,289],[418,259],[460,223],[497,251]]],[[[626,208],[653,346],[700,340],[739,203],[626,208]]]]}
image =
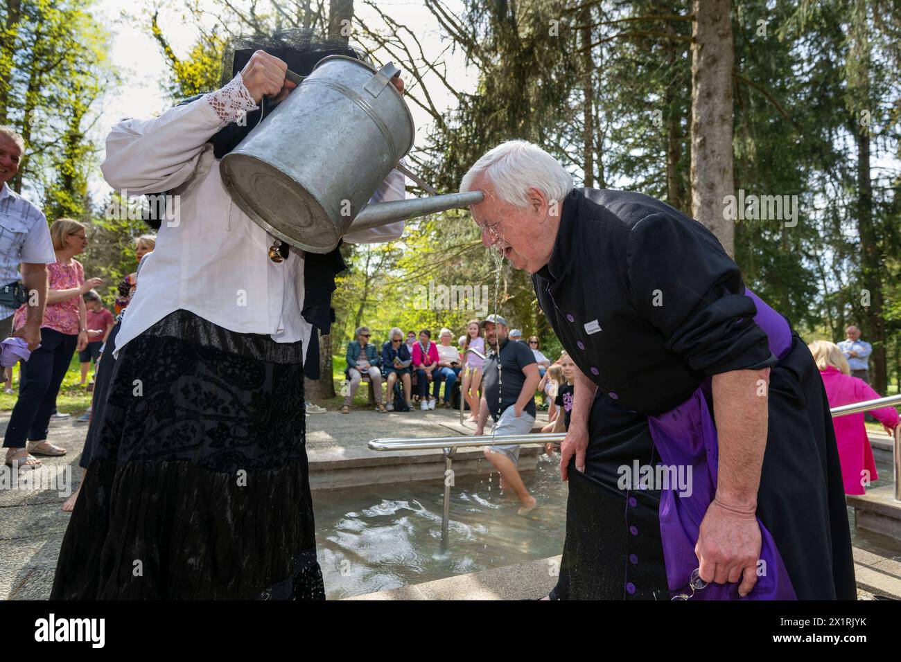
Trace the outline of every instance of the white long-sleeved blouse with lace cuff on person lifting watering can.
{"type": "MultiPolygon", "coordinates": [[[[152,120],[124,120],[106,139],[101,165],[123,195],[170,191],[174,215],[163,221],[156,249],[141,268],[139,286],[115,339],[118,355],[129,340],[169,313],[187,310],[240,333],[265,333],[277,342],[304,341],[312,327],[304,307],[304,251],[291,248],[280,263],[268,257],[276,240],[232,204],[208,143],[229,122],[254,110],[241,75],[191,104],[152,120]]],[[[403,200],[405,180],[394,170],[370,202],[403,200]]],[[[404,222],[352,232],[345,241],[394,240],[404,222]]]]}

